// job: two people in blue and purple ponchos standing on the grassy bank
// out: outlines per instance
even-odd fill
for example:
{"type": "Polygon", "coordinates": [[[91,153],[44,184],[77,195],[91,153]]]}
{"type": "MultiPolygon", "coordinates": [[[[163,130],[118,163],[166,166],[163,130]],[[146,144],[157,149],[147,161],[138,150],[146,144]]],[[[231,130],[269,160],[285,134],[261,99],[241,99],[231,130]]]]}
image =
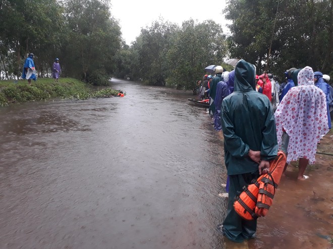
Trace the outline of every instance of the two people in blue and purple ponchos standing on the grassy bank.
{"type": "MultiPolygon", "coordinates": [[[[22,72],[22,78],[28,80],[28,84],[31,85],[31,79],[36,80],[36,68],[34,63],[34,57],[35,55],[33,53],[27,54],[27,58],[24,61],[23,64],[23,72],[22,72]]],[[[55,82],[58,82],[58,79],[60,77],[61,67],[59,63],[59,58],[55,58],[53,65],[52,65],[52,77],[55,82]]]]}

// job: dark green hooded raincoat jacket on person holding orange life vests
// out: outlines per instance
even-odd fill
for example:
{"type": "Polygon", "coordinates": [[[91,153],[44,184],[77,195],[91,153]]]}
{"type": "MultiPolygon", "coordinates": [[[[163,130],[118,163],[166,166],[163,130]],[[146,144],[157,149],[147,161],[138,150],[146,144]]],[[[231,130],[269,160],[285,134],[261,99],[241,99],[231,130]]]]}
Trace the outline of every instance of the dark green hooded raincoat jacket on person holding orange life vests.
{"type": "Polygon", "coordinates": [[[255,91],[254,66],[245,60],[235,69],[234,93],[222,102],[221,121],[228,175],[258,170],[258,164],[248,156],[249,149],[260,150],[262,160],[276,157],[274,113],[268,98],[255,91]]]}

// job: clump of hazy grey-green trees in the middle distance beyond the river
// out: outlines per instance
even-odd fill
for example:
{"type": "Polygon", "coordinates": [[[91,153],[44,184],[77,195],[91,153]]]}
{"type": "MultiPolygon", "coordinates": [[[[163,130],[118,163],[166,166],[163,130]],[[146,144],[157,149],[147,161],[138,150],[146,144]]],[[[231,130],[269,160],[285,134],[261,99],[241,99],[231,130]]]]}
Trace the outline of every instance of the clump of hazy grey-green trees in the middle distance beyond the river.
{"type": "Polygon", "coordinates": [[[123,46],[117,76],[151,85],[193,89],[204,67],[221,64],[227,54],[226,38],[213,21],[192,19],[182,26],[162,19],[142,28],[132,46],[123,46]]]}

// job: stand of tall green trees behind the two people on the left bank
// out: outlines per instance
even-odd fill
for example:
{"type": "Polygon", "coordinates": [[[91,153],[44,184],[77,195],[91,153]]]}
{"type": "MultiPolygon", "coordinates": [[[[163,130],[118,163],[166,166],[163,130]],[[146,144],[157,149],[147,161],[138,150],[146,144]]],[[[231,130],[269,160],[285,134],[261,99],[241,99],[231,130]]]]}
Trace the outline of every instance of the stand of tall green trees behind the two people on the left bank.
{"type": "Polygon", "coordinates": [[[0,69],[19,77],[27,53],[38,77],[55,57],[63,76],[103,85],[116,66],[120,26],[105,0],[0,0],[0,69]]]}

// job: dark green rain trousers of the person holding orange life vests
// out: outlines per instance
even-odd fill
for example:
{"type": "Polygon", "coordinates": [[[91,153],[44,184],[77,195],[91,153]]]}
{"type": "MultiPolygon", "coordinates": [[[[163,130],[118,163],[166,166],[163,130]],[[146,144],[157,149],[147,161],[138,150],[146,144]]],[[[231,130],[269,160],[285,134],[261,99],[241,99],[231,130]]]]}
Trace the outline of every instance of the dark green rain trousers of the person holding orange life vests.
{"type": "Polygon", "coordinates": [[[230,175],[229,200],[227,216],[223,222],[223,230],[227,238],[235,242],[243,242],[254,236],[257,230],[257,220],[245,220],[239,216],[233,205],[236,195],[243,190],[243,186],[251,184],[253,179],[259,177],[259,171],[240,175],[230,175]]]}

